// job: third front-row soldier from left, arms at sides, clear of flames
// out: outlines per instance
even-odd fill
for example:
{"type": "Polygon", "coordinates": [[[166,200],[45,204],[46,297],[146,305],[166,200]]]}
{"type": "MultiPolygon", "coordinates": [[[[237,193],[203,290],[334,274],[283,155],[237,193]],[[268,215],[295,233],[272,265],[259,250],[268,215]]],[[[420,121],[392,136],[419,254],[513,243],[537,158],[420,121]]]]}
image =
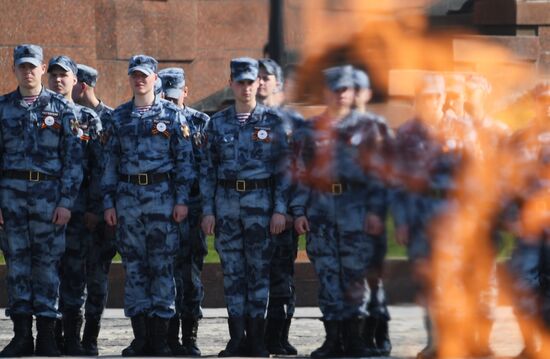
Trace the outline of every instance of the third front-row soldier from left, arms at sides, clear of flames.
{"type": "Polygon", "coordinates": [[[215,231],[224,274],[231,340],[219,356],[267,357],[262,333],[271,236],[280,234],[286,224],[288,144],[281,118],[256,102],[258,62],[237,58],[230,67],[235,105],[215,114],[206,131],[200,176],[202,228],[207,235],[215,231]]]}

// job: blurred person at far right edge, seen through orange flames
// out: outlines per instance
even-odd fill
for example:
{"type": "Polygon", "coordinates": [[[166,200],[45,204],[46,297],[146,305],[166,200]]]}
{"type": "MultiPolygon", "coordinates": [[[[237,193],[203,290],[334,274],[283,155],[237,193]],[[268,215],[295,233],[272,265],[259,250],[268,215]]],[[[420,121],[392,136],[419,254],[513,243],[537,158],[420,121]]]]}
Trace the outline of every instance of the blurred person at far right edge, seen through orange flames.
{"type": "MultiPolygon", "coordinates": [[[[521,176],[516,197],[508,209],[509,220],[516,235],[516,247],[510,259],[513,277],[514,312],[523,337],[520,359],[535,358],[537,342],[543,333],[538,321],[550,326],[550,245],[548,244],[548,154],[550,153],[550,83],[542,82],[533,90],[535,118],[510,139],[511,156],[516,158],[512,174],[521,176]],[[531,209],[531,211],[529,211],[531,209]],[[533,228],[529,222],[541,223],[533,228]],[[537,221],[537,222],[538,222],[537,221]]],[[[510,181],[510,179],[508,179],[510,181]]],[[[516,182],[517,181],[517,182],[516,182]]],[[[544,343],[543,341],[543,348],[544,343]]]]}

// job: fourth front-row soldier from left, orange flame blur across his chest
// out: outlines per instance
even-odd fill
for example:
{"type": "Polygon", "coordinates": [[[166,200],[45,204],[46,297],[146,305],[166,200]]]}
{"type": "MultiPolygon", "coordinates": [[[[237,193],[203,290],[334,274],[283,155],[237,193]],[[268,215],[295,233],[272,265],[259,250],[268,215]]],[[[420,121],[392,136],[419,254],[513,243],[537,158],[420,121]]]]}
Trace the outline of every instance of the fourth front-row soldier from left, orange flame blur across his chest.
{"type": "Polygon", "coordinates": [[[374,250],[371,236],[383,231],[377,213],[385,190],[365,175],[360,148],[376,124],[351,109],[351,66],[332,67],[324,75],[327,109],[295,136],[301,183],[301,206],[293,208],[295,228],[308,232],[307,253],[319,277],[326,331],[325,342],[311,356],[372,356],[376,353],[362,338],[369,301],[365,275],[374,250]]]}

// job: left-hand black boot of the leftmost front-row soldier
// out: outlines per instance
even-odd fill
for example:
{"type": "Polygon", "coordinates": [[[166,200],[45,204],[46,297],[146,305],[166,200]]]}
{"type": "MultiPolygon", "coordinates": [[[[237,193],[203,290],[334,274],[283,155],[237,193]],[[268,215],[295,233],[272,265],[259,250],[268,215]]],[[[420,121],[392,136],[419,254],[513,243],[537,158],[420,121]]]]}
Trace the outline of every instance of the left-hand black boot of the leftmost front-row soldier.
{"type": "Polygon", "coordinates": [[[26,357],[34,354],[32,315],[12,315],[13,338],[0,352],[0,358],[26,357]]]}

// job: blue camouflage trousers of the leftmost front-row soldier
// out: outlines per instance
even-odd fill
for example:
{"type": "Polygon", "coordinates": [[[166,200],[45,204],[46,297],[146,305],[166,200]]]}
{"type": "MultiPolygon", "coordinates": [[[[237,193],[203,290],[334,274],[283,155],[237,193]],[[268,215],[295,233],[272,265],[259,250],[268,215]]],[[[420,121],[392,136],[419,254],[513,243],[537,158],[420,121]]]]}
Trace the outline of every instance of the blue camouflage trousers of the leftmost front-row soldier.
{"type": "Polygon", "coordinates": [[[0,180],[7,264],[6,315],[57,318],[58,266],[65,251],[65,226],[52,223],[58,181],[0,180]]]}

